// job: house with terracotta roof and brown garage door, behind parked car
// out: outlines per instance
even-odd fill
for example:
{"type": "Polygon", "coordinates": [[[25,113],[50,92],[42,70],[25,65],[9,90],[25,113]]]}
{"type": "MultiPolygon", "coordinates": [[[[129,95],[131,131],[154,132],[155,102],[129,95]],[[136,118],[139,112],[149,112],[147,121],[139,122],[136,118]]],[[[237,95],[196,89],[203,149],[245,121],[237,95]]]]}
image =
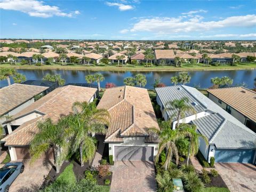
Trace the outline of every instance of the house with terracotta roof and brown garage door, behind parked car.
{"type": "MultiPolygon", "coordinates": [[[[62,86],[15,114],[11,121],[7,122],[7,126],[18,128],[1,140],[9,147],[11,160],[24,161],[31,158],[29,146],[38,132],[39,121],[51,118],[53,123],[57,123],[61,116],[72,112],[74,102],[92,102],[96,92],[97,89],[89,87],[62,86]]],[[[47,151],[39,159],[53,159],[52,150],[47,151]]]]}

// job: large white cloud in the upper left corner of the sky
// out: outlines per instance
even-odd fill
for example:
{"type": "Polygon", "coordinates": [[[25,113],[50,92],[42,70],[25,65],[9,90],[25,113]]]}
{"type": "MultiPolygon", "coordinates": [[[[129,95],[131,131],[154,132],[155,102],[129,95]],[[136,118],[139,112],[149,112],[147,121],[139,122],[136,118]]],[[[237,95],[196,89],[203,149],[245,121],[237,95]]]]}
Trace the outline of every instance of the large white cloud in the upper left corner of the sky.
{"type": "Polygon", "coordinates": [[[49,18],[53,16],[74,17],[79,11],[62,12],[58,6],[45,5],[43,1],[36,0],[2,0],[0,9],[14,10],[27,13],[31,17],[49,18]]]}

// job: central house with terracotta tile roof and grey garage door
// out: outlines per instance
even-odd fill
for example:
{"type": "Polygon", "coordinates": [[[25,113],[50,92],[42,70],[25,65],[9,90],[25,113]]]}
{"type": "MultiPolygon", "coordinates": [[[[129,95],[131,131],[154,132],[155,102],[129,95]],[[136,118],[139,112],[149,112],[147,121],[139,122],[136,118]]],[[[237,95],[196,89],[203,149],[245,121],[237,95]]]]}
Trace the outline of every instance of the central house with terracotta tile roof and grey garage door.
{"type": "Polygon", "coordinates": [[[114,161],[154,160],[158,138],[148,130],[159,127],[147,89],[133,86],[106,89],[98,108],[110,113],[105,142],[114,161]]]}

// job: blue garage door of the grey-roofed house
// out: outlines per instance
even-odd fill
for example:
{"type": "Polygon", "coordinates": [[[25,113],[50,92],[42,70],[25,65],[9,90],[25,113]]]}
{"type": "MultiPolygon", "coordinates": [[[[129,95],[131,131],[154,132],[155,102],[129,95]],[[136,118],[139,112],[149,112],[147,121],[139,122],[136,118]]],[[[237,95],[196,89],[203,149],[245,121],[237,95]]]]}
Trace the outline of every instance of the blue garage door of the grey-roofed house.
{"type": "Polygon", "coordinates": [[[252,163],[254,149],[216,149],[215,162],[252,163]]]}

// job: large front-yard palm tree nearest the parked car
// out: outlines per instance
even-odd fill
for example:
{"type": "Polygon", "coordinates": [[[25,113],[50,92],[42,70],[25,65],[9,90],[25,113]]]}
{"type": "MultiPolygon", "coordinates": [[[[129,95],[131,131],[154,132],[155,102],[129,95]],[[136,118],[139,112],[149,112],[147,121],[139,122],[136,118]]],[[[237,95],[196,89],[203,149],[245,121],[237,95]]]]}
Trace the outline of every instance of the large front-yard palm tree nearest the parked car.
{"type": "Polygon", "coordinates": [[[50,118],[39,121],[37,123],[37,129],[39,132],[36,133],[30,143],[31,163],[49,151],[50,148],[53,148],[54,164],[56,172],[59,173],[61,163],[60,148],[65,149],[65,146],[67,146],[67,141],[63,137],[64,130],[61,126],[53,124],[50,118]]]}

